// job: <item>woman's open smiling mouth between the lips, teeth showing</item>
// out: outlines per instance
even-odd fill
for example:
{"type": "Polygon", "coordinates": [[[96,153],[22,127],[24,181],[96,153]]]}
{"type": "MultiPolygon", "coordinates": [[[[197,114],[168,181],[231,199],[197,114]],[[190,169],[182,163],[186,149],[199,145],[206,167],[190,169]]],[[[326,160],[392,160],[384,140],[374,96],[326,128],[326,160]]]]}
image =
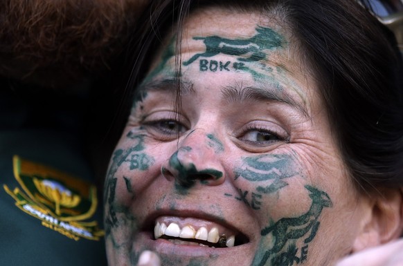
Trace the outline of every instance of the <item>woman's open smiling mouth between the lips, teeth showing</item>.
{"type": "Polygon", "coordinates": [[[159,218],[154,226],[154,238],[163,238],[176,245],[198,245],[201,247],[235,247],[249,240],[239,231],[228,229],[213,222],[192,218],[159,218]]]}

